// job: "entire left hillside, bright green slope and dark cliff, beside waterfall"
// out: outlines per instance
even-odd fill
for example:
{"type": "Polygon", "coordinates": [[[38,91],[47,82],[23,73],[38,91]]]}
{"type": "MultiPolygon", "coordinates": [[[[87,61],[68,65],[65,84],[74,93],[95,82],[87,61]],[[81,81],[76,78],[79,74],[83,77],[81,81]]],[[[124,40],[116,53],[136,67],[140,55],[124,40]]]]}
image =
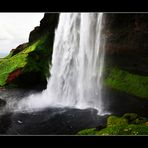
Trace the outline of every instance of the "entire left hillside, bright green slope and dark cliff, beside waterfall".
{"type": "Polygon", "coordinates": [[[0,60],[0,86],[46,87],[58,15],[45,14],[40,26],[30,33],[29,42],[19,45],[0,60]]]}

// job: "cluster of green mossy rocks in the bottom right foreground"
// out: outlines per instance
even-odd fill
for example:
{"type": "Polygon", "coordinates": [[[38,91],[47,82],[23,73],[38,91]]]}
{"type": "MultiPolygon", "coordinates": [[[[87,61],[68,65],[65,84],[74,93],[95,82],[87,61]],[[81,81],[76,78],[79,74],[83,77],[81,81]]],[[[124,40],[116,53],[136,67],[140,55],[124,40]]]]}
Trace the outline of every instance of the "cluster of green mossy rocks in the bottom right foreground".
{"type": "Polygon", "coordinates": [[[122,117],[109,116],[107,126],[101,130],[85,129],[78,135],[148,135],[148,119],[135,113],[127,113],[122,117]]]}

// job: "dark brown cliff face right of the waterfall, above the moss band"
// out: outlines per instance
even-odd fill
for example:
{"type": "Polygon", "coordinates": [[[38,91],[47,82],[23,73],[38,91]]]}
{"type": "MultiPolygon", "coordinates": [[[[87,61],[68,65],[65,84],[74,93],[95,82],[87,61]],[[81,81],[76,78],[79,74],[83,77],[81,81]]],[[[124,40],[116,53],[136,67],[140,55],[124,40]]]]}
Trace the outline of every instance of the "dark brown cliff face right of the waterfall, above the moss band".
{"type": "Polygon", "coordinates": [[[106,61],[148,75],[148,14],[105,14],[106,61]]]}

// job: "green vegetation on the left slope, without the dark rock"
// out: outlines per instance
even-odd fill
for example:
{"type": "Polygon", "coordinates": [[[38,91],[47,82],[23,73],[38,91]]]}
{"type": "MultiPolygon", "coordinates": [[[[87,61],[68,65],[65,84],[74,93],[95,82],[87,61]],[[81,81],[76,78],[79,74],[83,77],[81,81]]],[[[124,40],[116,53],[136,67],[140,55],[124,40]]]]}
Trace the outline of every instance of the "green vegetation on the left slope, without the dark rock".
{"type": "Polygon", "coordinates": [[[17,69],[22,69],[22,73],[40,72],[44,79],[49,75],[49,63],[51,61],[52,48],[49,44],[49,37],[46,34],[37,41],[25,46],[24,49],[10,54],[0,61],[0,86],[7,84],[9,74],[17,69]]]}

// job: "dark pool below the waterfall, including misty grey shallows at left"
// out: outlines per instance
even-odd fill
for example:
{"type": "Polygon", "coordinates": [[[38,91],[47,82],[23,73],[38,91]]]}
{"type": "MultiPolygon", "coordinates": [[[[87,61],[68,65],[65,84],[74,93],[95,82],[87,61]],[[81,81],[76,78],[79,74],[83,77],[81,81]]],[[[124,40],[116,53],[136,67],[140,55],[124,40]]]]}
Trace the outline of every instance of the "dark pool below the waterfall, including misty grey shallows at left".
{"type": "Polygon", "coordinates": [[[86,128],[102,127],[107,116],[98,116],[95,109],[45,108],[36,112],[12,112],[17,101],[36,93],[25,90],[3,90],[1,99],[7,105],[1,109],[0,134],[4,135],[75,135],[86,128]],[[11,102],[11,103],[10,103],[11,102]],[[13,104],[13,105],[12,105],[13,104]]]}

